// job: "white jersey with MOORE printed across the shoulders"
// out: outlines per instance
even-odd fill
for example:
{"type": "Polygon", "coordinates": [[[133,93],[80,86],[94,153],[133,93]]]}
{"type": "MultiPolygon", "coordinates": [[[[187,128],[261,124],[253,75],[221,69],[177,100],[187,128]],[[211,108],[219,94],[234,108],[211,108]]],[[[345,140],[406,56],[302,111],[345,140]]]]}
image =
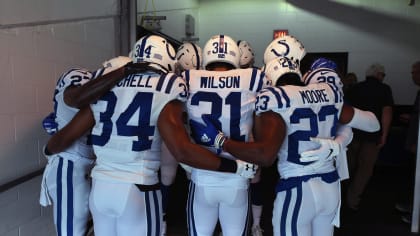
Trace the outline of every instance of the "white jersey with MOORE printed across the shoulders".
{"type": "Polygon", "coordinates": [[[305,168],[311,162],[300,162],[299,153],[318,148],[310,137],[335,137],[342,105],[341,90],[327,83],[270,87],[261,91],[257,97],[257,115],[271,110],[280,114],[287,126],[278,153],[277,168],[282,178],[335,170],[332,161],[316,169],[305,168]]]}

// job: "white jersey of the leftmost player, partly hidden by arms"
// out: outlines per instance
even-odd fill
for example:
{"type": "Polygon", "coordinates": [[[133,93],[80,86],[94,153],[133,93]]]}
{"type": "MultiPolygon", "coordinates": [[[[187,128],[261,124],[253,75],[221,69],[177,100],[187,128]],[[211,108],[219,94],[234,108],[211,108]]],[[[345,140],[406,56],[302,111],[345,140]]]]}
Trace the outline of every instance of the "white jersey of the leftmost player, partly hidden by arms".
{"type": "MultiPolygon", "coordinates": [[[[55,121],[58,124],[58,129],[66,126],[79,111],[79,109],[70,107],[64,102],[64,91],[70,86],[81,86],[91,78],[91,72],[86,69],[75,68],[64,73],[58,79],[54,92],[54,112],[56,114],[55,121]]],[[[76,140],[69,148],[62,152],[66,154],[62,156],[69,159],[80,157],[93,159],[93,150],[91,145],[88,144],[88,135],[86,134],[76,140]]]]}

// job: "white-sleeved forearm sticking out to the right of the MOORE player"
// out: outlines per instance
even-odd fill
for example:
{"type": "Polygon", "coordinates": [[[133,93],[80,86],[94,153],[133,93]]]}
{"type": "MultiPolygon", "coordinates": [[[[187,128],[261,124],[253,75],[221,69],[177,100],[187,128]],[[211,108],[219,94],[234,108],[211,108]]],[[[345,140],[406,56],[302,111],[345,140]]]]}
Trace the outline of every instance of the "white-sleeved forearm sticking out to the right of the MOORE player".
{"type": "Polygon", "coordinates": [[[343,105],[339,121],[341,124],[346,124],[352,128],[366,132],[376,132],[381,128],[375,114],[346,104],[343,105]]]}

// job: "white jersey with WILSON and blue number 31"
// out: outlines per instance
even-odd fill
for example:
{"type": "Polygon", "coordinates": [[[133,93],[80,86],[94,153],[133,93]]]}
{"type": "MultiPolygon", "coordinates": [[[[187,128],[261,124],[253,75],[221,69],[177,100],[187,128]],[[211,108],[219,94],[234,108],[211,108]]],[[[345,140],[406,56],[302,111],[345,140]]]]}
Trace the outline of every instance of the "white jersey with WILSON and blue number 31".
{"type": "MultiPolygon", "coordinates": [[[[230,139],[243,142],[249,140],[256,95],[271,84],[263,72],[255,68],[187,70],[183,76],[190,93],[186,104],[189,119],[204,123],[201,116],[209,114],[217,128],[230,139]]],[[[216,153],[214,148],[209,150],[216,153]]],[[[234,158],[225,152],[220,155],[234,158]]],[[[230,173],[194,169],[191,178],[198,185],[248,186],[247,179],[230,173]]]]}

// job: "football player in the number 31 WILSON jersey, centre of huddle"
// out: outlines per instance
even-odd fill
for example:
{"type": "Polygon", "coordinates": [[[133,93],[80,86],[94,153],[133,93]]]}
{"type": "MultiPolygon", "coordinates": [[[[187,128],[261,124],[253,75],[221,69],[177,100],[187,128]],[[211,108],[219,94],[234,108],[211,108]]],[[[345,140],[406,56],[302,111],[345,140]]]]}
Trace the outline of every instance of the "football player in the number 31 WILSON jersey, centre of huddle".
{"type": "MultiPolygon", "coordinates": [[[[238,69],[240,56],[231,37],[211,37],[203,49],[206,70],[184,72],[190,92],[186,107],[190,121],[208,118],[232,139],[246,142],[252,131],[255,97],[270,81],[256,68],[238,69]]],[[[196,140],[198,144],[207,141],[206,137],[196,140]]],[[[209,150],[235,159],[218,148],[209,150]]],[[[187,205],[189,235],[213,235],[218,220],[224,236],[246,234],[248,186],[249,179],[242,176],[193,168],[187,205]]]]}

